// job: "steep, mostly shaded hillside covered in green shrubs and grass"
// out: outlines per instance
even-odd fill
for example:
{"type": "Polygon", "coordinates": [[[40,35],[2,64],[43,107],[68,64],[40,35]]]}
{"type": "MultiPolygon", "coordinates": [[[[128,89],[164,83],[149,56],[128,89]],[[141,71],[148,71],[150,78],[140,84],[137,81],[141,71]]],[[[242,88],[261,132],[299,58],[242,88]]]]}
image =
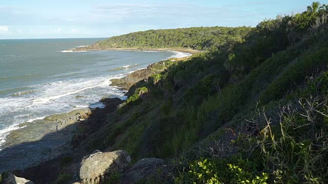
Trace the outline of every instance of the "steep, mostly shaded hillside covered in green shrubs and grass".
{"type": "Polygon", "coordinates": [[[171,160],[156,182],[328,182],[328,15],[260,22],[130,88],[79,149],[171,160]]]}

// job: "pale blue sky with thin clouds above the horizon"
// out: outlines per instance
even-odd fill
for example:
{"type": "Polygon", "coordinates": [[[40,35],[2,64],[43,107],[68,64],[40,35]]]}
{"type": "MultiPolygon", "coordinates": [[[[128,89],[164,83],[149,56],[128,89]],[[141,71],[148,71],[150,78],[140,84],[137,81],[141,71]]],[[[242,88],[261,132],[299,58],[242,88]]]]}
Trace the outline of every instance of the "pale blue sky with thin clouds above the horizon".
{"type": "Polygon", "coordinates": [[[256,26],[308,0],[0,1],[0,39],[110,37],[149,29],[256,26]]]}

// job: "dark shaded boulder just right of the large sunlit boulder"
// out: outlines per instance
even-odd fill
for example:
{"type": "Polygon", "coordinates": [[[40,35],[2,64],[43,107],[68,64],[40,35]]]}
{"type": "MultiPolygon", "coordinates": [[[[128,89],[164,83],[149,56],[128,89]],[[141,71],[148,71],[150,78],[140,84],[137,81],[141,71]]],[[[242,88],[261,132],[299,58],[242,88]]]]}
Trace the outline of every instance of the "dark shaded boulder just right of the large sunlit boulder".
{"type": "Polygon", "coordinates": [[[141,179],[147,181],[156,178],[163,172],[164,160],[159,158],[144,158],[127,169],[122,176],[122,183],[137,183],[141,179]]]}

